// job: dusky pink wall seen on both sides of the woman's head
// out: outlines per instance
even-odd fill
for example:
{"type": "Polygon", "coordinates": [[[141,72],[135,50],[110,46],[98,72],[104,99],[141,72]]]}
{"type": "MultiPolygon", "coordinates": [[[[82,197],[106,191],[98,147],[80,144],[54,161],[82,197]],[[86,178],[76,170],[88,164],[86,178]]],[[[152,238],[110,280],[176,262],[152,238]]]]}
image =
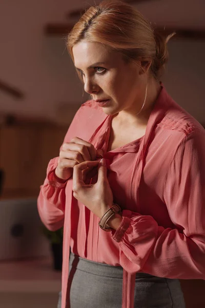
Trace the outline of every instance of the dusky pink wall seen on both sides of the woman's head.
{"type": "MultiPolygon", "coordinates": [[[[155,11],[159,12],[162,2],[151,1],[150,6],[145,3],[139,8],[153,20],[152,3],[158,3],[155,11]]],[[[48,22],[66,21],[66,12],[82,7],[81,3],[81,0],[1,1],[0,80],[19,87],[26,97],[23,101],[15,101],[0,91],[0,113],[12,111],[55,118],[59,103],[68,102],[72,108],[73,102],[78,105],[84,102],[86,96],[82,98],[82,85],[68,56],[65,40],[46,37],[43,31],[48,22]]],[[[156,15],[157,20],[162,18],[160,16],[156,15]]],[[[170,24],[169,19],[167,23],[170,24]]],[[[202,84],[205,41],[173,40],[169,42],[169,50],[165,85],[180,105],[198,121],[205,122],[202,84]]]]}

